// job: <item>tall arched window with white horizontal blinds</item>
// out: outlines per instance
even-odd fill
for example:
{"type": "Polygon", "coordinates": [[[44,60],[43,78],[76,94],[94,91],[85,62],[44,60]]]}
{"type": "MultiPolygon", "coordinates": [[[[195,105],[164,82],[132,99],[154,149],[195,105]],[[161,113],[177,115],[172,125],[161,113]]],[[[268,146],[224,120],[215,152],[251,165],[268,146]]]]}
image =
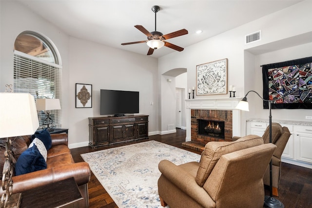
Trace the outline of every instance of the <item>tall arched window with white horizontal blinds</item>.
{"type": "MultiPolygon", "coordinates": [[[[61,99],[61,70],[53,45],[32,31],[20,33],[14,43],[14,92],[37,98],[61,99]]],[[[61,128],[61,110],[49,112],[55,128],[61,128]]],[[[45,113],[38,111],[39,129],[46,128],[45,113]]],[[[51,127],[51,123],[49,124],[51,127]]]]}

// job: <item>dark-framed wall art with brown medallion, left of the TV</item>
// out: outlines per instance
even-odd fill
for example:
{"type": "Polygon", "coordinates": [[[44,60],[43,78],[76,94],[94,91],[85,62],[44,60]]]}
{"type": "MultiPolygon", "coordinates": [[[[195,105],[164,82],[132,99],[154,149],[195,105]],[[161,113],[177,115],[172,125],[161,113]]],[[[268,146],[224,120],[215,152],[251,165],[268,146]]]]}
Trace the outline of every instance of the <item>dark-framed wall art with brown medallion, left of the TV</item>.
{"type": "Polygon", "coordinates": [[[76,108],[92,108],[92,85],[76,83],[76,108]]]}

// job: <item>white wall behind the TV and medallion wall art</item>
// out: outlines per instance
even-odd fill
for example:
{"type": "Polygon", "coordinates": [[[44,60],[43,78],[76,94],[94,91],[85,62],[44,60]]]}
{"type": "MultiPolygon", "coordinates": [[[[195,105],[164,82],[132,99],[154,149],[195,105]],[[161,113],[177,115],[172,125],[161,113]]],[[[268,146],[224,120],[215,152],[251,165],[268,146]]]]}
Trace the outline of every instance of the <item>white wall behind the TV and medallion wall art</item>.
{"type": "Polygon", "coordinates": [[[158,131],[157,59],[98,43],[70,38],[70,134],[88,138],[88,117],[100,116],[100,89],[139,91],[140,114],[149,115],[149,132],[158,131]],[[75,108],[75,84],[92,84],[93,107],[75,108]],[[150,105],[154,102],[154,105],[150,105]]]}

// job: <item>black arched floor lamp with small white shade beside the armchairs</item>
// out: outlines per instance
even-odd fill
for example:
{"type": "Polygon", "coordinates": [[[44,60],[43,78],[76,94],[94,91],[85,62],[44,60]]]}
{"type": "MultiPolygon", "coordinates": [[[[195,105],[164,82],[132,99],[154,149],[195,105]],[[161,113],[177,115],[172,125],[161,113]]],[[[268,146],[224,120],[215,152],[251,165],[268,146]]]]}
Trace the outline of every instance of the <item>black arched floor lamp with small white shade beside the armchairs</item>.
{"type": "MultiPolygon", "coordinates": [[[[270,143],[272,143],[272,114],[271,114],[271,102],[272,100],[265,100],[263,99],[257,92],[251,90],[249,91],[245,97],[238,103],[236,109],[249,111],[249,105],[247,101],[247,95],[250,92],[254,92],[257,94],[263,101],[269,102],[269,136],[270,136],[270,143]]],[[[270,161],[270,196],[264,197],[264,207],[265,208],[284,208],[283,203],[281,203],[278,199],[273,197],[273,185],[272,185],[272,159],[270,161]]]]}

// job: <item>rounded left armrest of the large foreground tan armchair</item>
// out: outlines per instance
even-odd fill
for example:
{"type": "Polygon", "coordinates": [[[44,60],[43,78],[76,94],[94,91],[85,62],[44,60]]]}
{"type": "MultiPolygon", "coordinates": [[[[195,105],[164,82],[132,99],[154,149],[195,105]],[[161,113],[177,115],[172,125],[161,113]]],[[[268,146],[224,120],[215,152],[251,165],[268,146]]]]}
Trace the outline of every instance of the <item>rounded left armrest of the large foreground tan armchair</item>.
{"type": "Polygon", "coordinates": [[[162,160],[158,164],[158,169],[162,175],[173,183],[177,188],[185,192],[187,195],[205,205],[208,201],[209,194],[205,189],[198,186],[195,177],[189,172],[183,170],[179,166],[168,160],[162,160]]]}

